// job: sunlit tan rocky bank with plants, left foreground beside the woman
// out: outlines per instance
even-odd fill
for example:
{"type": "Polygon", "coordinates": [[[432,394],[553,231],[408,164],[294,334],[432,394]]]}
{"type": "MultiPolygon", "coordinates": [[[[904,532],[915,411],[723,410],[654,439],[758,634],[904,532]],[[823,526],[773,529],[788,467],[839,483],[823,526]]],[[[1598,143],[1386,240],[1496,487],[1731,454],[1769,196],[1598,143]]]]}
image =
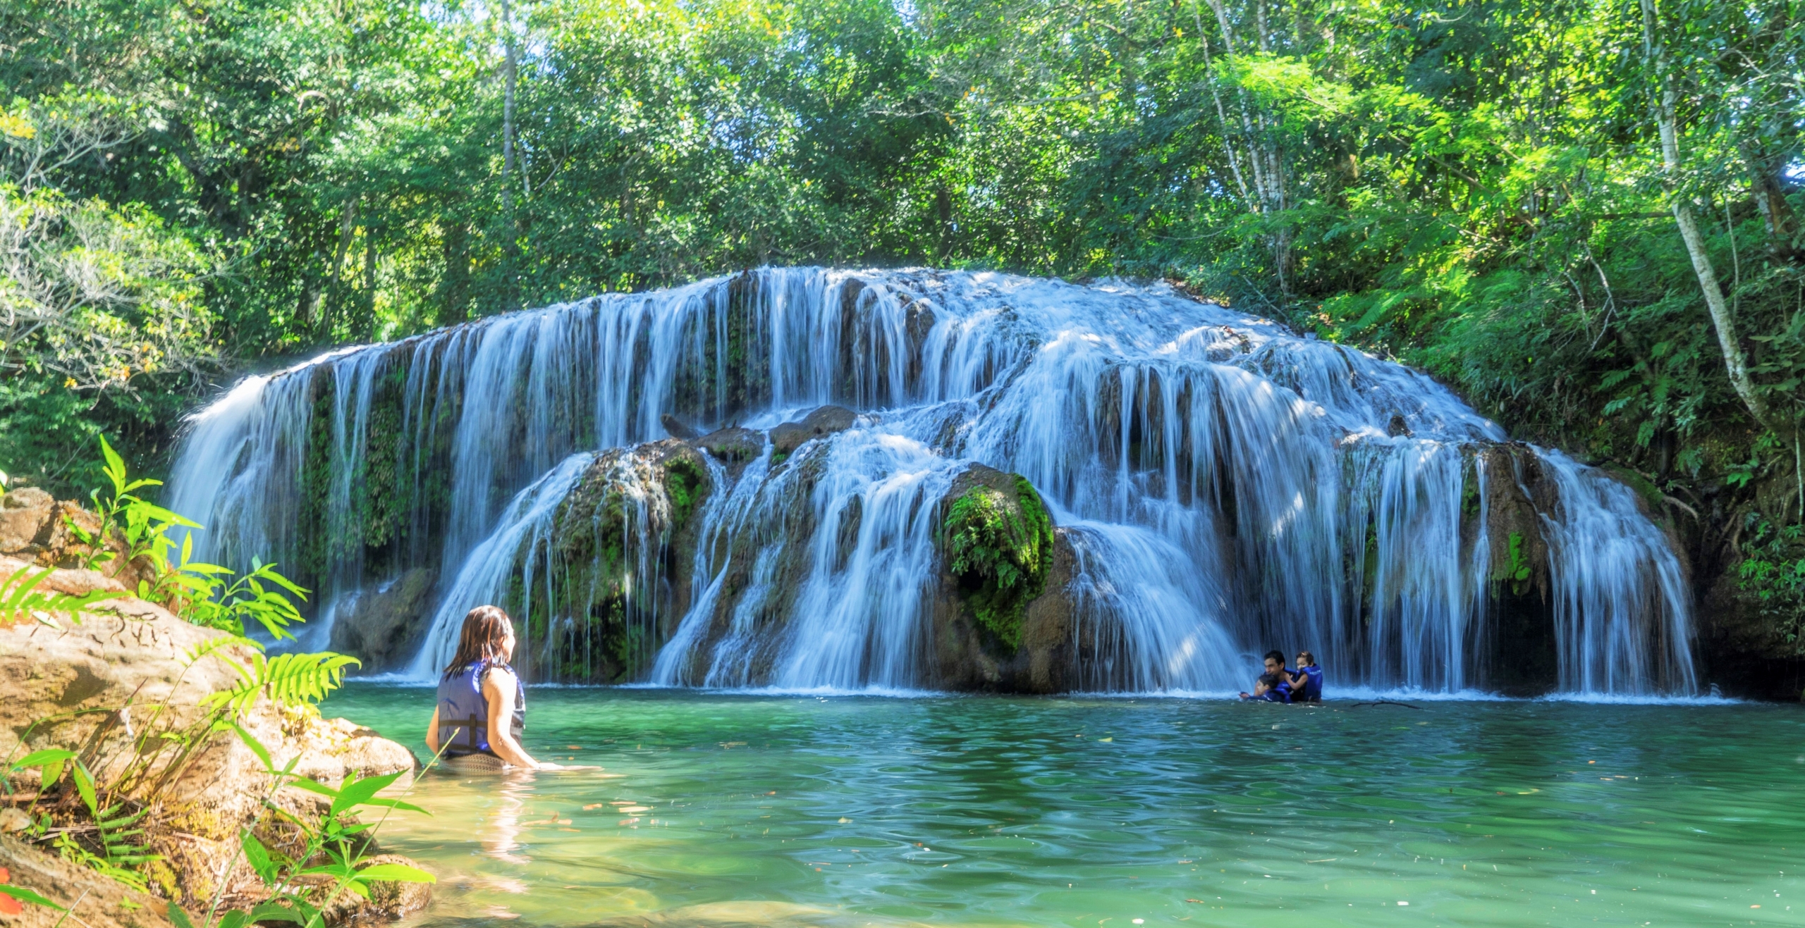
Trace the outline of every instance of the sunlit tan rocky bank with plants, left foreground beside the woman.
{"type": "MultiPolygon", "coordinates": [[[[18,493],[9,500],[13,496],[18,493]]],[[[36,551],[16,554],[51,552],[43,540],[42,534],[27,540],[36,551]]],[[[18,536],[7,538],[16,549],[25,547],[16,542],[18,536]]],[[[0,580],[22,569],[22,576],[43,571],[18,556],[0,556],[0,580]]],[[[123,594],[125,585],[96,571],[51,569],[36,590],[123,594]]],[[[9,870],[11,883],[74,906],[70,921],[94,928],[162,926],[166,901],[195,910],[222,890],[227,905],[258,901],[262,883],[238,854],[240,831],[255,827],[265,845],[278,849],[292,845],[296,836],[262,814],[271,787],[264,764],[236,735],[208,731],[204,708],[208,695],[238,682],[233,663],[249,663],[249,648],[220,646],[222,632],[199,628],[130,596],[96,603],[74,616],[78,621],[67,614],[14,619],[0,621],[0,688],[7,693],[0,701],[0,756],[18,760],[51,747],[74,751],[96,782],[119,784],[112,794],[116,802],[146,811],[139,823],[144,829],[141,841],[155,859],[137,867],[148,877],[148,892],[139,892],[60,856],[54,850],[60,840],[81,841],[92,825],[58,812],[51,812],[49,821],[40,818],[45,807],[58,803],[34,802],[40,800],[40,771],[22,769],[7,776],[7,791],[0,796],[0,867],[9,870]],[[144,744],[159,738],[173,744],[182,737],[195,738],[193,751],[164,749],[144,760],[144,744]]],[[[296,773],[329,785],[347,776],[397,771],[406,771],[406,782],[417,767],[401,744],[343,719],[321,719],[307,706],[278,706],[258,697],[238,722],[271,751],[278,767],[292,760],[296,773]]],[[[273,802],[314,818],[327,809],[319,796],[292,787],[278,791],[273,802]]],[[[428,890],[379,883],[372,897],[357,906],[336,906],[332,921],[397,917],[422,906],[428,890]]],[[[49,926],[60,915],[25,906],[9,924],[49,926]]]]}

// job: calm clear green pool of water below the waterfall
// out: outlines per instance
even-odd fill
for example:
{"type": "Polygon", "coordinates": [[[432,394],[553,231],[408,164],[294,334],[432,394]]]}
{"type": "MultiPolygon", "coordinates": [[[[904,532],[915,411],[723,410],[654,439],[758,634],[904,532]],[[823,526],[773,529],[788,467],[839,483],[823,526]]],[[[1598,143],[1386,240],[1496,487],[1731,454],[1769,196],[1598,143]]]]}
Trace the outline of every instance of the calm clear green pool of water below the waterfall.
{"type": "MultiPolygon", "coordinates": [[[[424,778],[410,924],[1805,924],[1791,706],[527,701],[603,771],[424,778]]],[[[419,753],[431,693],[325,710],[419,753]]]]}

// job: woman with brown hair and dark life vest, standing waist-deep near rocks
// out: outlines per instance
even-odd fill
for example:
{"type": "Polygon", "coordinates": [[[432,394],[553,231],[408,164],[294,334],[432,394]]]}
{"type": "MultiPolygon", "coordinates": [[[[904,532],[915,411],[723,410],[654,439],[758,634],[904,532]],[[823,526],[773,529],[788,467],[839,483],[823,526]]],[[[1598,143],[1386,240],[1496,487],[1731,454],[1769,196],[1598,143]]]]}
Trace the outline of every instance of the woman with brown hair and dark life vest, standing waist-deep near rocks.
{"type": "Polygon", "coordinates": [[[540,764],[520,746],[527,726],[527,693],[507,666],[514,655],[514,623],[500,607],[477,607],[464,614],[457,655],[439,677],[439,706],[426,726],[426,746],[446,758],[477,758],[477,764],[558,769],[540,764]]]}

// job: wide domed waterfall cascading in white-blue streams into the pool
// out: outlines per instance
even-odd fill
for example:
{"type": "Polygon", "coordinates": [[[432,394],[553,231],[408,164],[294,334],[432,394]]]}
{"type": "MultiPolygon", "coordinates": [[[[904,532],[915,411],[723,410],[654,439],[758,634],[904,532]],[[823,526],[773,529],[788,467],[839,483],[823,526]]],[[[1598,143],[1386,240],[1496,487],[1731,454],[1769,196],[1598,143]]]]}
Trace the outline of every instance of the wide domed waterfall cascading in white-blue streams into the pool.
{"type": "Polygon", "coordinates": [[[1486,686],[1500,583],[1545,587],[1561,690],[1695,688],[1679,561],[1626,487],[1505,446],[1422,374],[1164,285],[762,269],[347,348],[197,413],[173,502],[209,525],[202,556],[278,560],[321,614],[439,571],[421,673],[462,610],[511,599],[538,610],[538,679],[606,663],[662,684],[921,688],[946,646],[942,500],[973,464],[1025,477],[1061,527],[1078,688],[1242,688],[1274,645],[1343,684],[1486,686]],[[857,421],[787,451],[747,432],[733,466],[702,455],[690,473],[713,489],[688,522],[688,489],[581,477],[590,451],[650,468],[677,451],[641,442],[832,403],[857,421]],[[1525,460],[1545,480],[1522,484],[1525,460]],[[1493,551],[1498,487],[1540,500],[1545,563],[1518,563],[1520,531],[1493,551]],[[560,545],[579,493],[594,538],[560,545]],[[601,538],[623,506],[637,529],[601,538]],[[677,536],[693,547],[668,563],[677,536]],[[632,634],[596,643],[588,621],[632,634]]]}

